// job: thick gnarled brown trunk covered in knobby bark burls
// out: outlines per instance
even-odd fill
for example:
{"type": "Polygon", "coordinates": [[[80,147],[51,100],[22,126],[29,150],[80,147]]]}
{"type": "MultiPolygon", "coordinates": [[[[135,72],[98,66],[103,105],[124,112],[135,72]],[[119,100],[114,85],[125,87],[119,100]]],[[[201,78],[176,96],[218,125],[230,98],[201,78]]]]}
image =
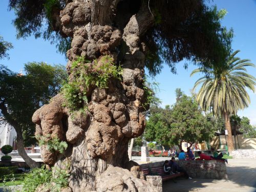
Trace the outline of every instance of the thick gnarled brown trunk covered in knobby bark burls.
{"type": "Polygon", "coordinates": [[[126,9],[116,10],[118,0],[69,2],[60,11],[60,21],[61,33],[72,37],[72,48],[67,52],[70,81],[74,75],[71,65],[78,56],[100,63],[104,55],[120,63],[122,80],[110,79],[106,89],[91,86],[86,90],[86,114],[77,112],[71,118],[61,93],[34,113],[36,135],[57,136],[69,145],[65,155],[42,147],[43,161],[59,167],[69,161],[69,186],[74,192],[157,191],[143,180],[138,164],[129,161],[127,154],[129,140],[140,136],[145,127],[146,48],[140,37],[154,25],[154,18],[146,6],[141,6],[136,14],[124,19],[122,12],[126,9]]]}

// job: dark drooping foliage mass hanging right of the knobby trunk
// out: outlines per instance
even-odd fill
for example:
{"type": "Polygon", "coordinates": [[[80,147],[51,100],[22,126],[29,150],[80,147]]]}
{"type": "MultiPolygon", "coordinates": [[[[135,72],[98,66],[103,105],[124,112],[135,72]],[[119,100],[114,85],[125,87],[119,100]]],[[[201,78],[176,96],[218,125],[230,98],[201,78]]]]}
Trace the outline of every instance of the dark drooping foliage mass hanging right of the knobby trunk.
{"type": "Polygon", "coordinates": [[[148,6],[157,21],[144,37],[150,52],[145,62],[150,75],[158,74],[163,63],[176,73],[176,63],[184,59],[207,68],[222,65],[233,37],[232,29],[221,26],[226,10],[186,0],[150,1],[148,6]]]}

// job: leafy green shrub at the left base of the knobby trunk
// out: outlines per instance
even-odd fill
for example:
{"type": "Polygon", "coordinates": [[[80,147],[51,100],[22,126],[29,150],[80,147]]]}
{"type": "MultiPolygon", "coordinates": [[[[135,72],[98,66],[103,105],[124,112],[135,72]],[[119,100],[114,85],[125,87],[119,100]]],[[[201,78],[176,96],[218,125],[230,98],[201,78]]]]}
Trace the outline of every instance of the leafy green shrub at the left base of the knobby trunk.
{"type": "Polygon", "coordinates": [[[34,168],[30,173],[26,174],[23,190],[26,192],[34,192],[35,189],[44,185],[44,189],[51,189],[53,192],[59,192],[62,187],[68,186],[68,173],[69,167],[66,169],[54,168],[54,172],[46,169],[44,166],[41,168],[34,168]]]}

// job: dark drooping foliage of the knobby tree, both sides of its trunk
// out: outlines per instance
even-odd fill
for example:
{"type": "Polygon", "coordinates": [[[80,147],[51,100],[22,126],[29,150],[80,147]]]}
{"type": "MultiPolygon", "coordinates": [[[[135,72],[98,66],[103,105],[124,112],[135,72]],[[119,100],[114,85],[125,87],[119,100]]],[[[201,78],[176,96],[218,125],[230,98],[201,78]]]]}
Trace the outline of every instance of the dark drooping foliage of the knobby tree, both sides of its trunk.
{"type": "MultiPolygon", "coordinates": [[[[57,42],[59,51],[66,52],[70,39],[62,32],[59,17],[66,3],[64,0],[10,0],[9,9],[16,14],[17,37],[42,36],[57,42]]],[[[133,15],[142,6],[150,9],[155,17],[155,25],[140,39],[148,49],[145,63],[151,75],[160,73],[163,63],[175,73],[176,63],[183,59],[205,67],[222,65],[233,36],[232,29],[228,31],[220,23],[225,10],[208,7],[204,0],[126,0],[119,2],[113,26],[125,26],[130,16],[123,17],[123,14],[133,15]]]]}

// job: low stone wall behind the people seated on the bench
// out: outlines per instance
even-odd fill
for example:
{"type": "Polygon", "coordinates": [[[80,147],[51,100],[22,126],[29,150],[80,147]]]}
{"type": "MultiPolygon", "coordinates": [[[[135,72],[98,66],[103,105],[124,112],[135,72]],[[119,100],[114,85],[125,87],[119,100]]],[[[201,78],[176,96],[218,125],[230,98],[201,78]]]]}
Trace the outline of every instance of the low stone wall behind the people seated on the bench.
{"type": "MultiPolygon", "coordinates": [[[[189,177],[204,179],[227,179],[226,164],[223,161],[176,161],[182,166],[189,177]]],[[[141,168],[161,167],[164,161],[141,164],[141,168]]]]}

